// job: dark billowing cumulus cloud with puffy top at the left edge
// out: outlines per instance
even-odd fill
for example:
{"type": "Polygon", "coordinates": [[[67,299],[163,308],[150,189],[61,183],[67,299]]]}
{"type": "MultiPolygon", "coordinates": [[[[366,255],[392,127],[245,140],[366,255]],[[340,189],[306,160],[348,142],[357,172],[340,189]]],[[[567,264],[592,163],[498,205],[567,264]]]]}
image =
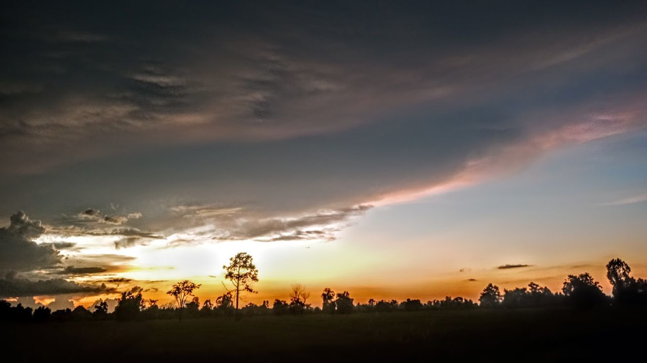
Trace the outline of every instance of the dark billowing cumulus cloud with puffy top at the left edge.
{"type": "Polygon", "coordinates": [[[0,271],[31,271],[60,264],[61,256],[51,245],[34,240],[45,232],[41,222],[23,211],[12,214],[8,227],[0,228],[0,271]]]}

